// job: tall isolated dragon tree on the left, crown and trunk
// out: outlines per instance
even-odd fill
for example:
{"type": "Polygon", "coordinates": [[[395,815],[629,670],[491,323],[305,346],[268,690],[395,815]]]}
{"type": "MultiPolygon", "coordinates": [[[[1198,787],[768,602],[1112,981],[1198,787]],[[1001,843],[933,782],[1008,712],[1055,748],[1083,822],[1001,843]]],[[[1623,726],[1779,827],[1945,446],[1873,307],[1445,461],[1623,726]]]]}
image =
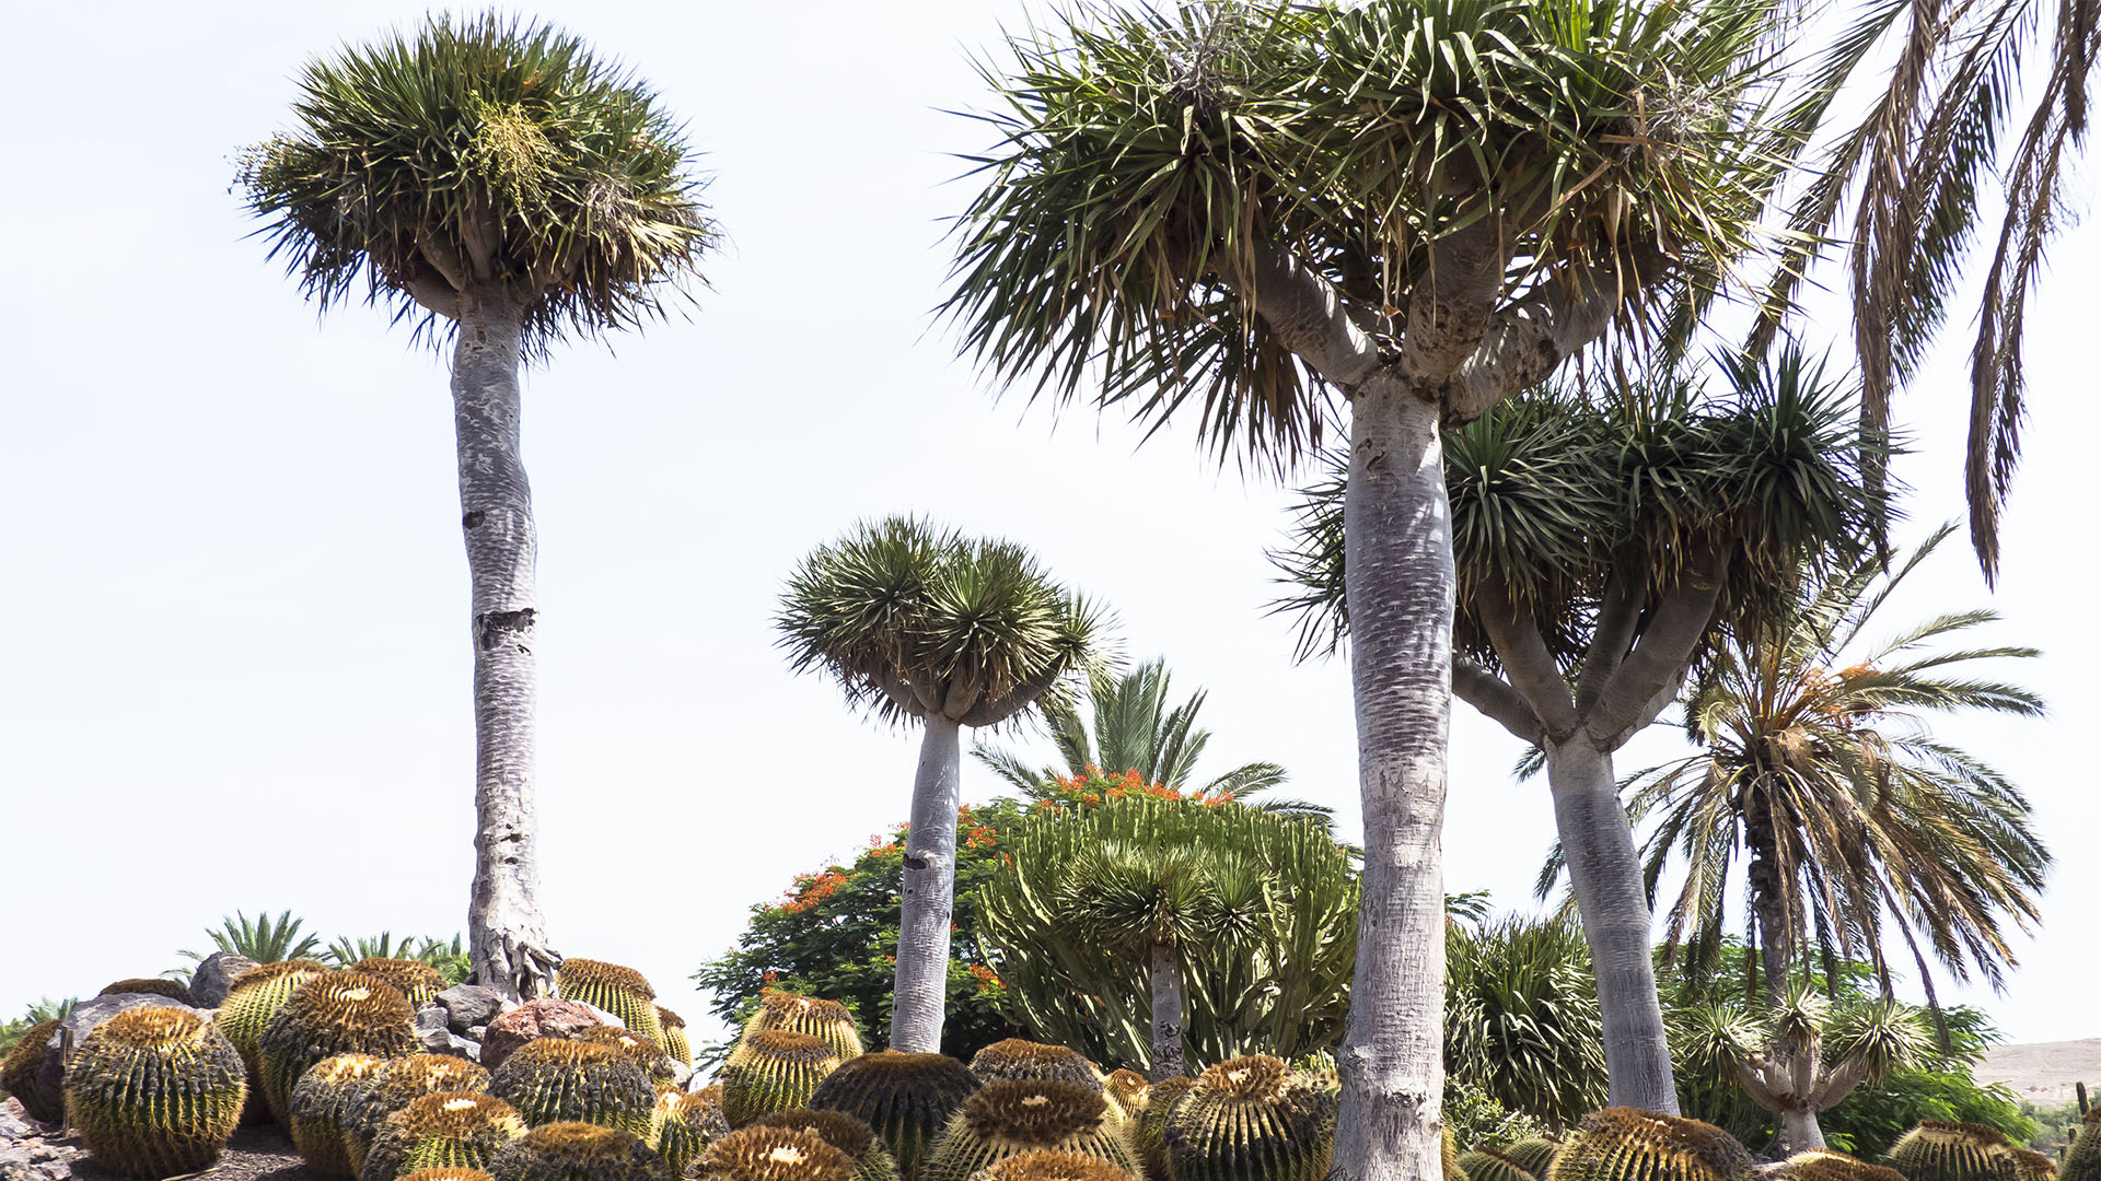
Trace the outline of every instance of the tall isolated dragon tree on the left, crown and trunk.
{"type": "Polygon", "coordinates": [[[469,944],[477,981],[534,996],[559,956],[536,897],[540,603],[519,366],[658,315],[714,231],[679,124],[544,25],[435,17],[309,63],[292,113],[240,174],[271,256],[324,309],[361,296],[452,340],[475,651],[469,944]]]}

